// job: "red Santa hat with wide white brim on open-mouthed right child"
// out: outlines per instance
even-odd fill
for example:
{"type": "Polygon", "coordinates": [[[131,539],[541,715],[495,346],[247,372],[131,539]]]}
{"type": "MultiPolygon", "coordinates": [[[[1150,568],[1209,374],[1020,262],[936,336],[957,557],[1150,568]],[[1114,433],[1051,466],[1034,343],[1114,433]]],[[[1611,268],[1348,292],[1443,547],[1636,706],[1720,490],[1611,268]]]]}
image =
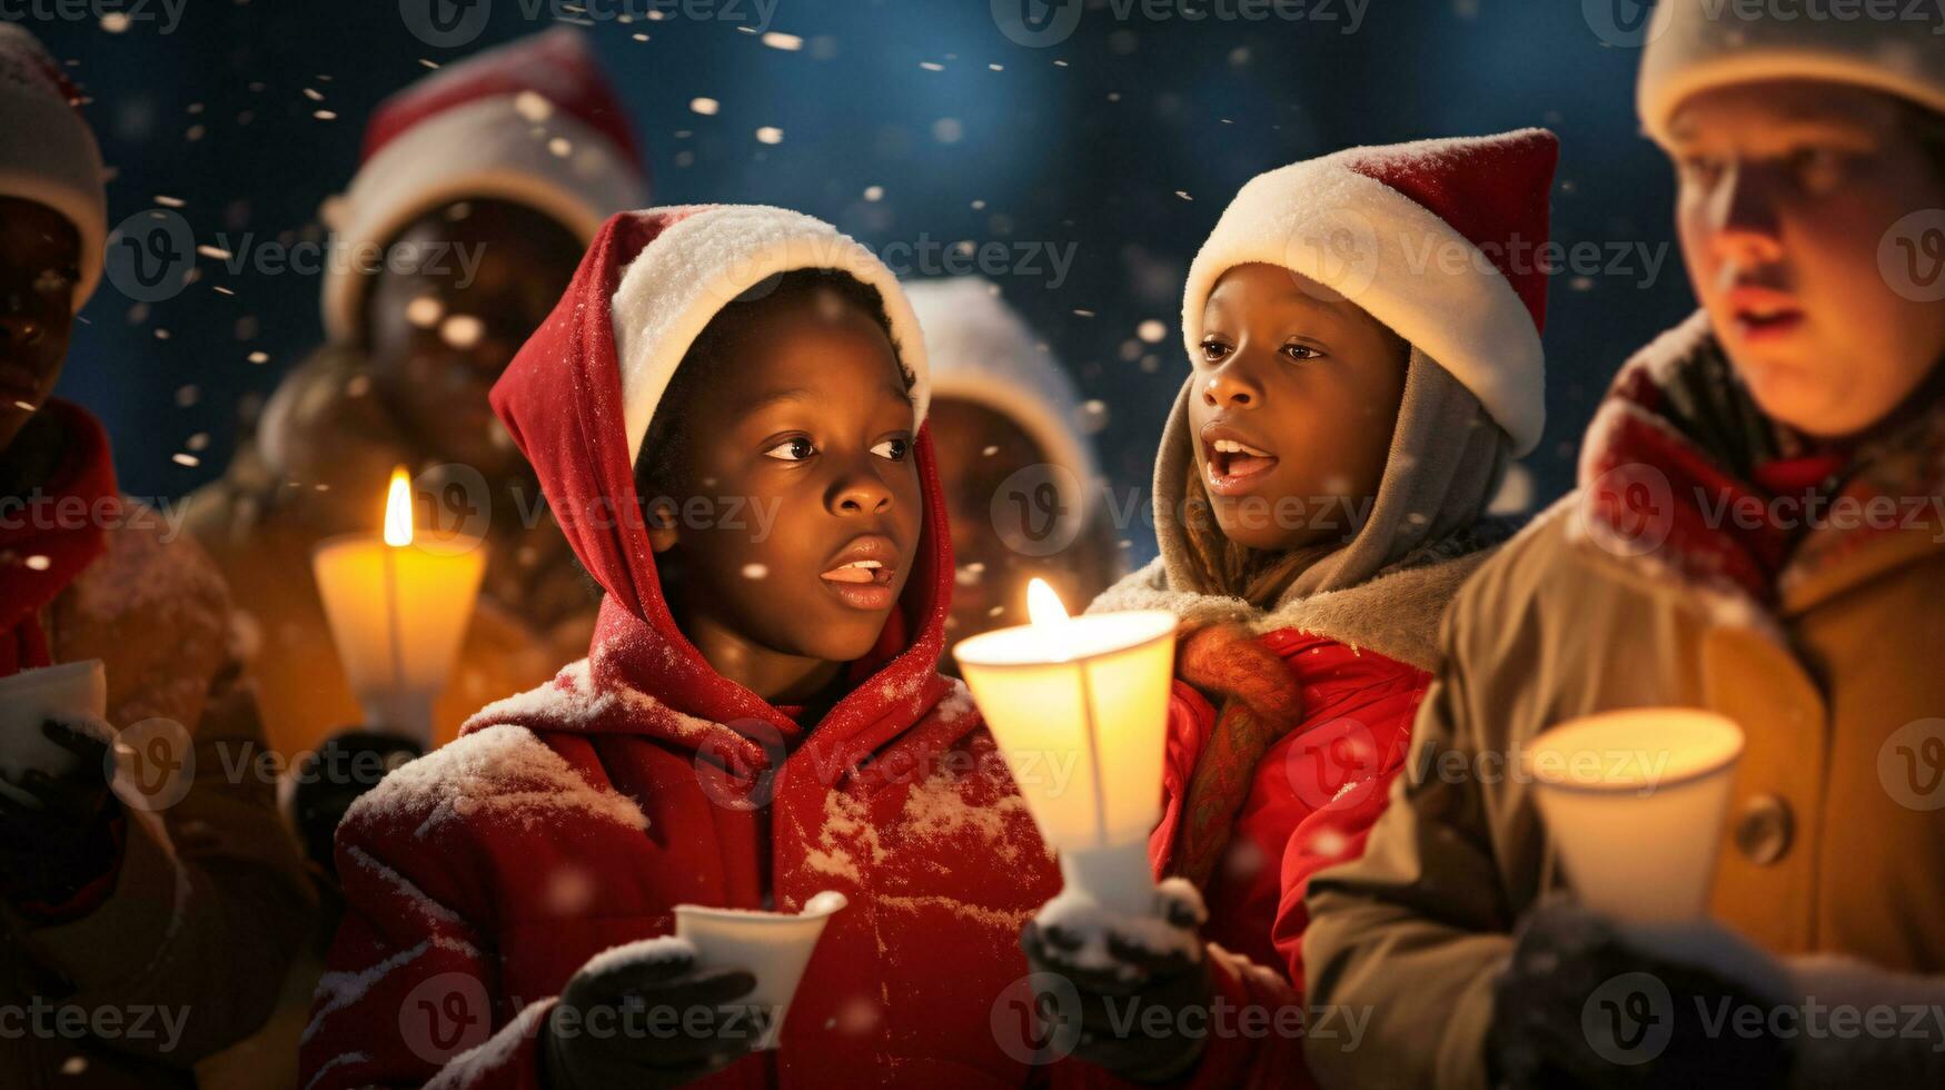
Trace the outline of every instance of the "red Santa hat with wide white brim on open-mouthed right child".
{"type": "Polygon", "coordinates": [[[1237,265],[1317,280],[1437,360],[1523,455],[1546,422],[1546,197],[1560,142],[1544,128],[1348,148],[1260,173],[1188,267],[1183,345],[1237,265]]]}

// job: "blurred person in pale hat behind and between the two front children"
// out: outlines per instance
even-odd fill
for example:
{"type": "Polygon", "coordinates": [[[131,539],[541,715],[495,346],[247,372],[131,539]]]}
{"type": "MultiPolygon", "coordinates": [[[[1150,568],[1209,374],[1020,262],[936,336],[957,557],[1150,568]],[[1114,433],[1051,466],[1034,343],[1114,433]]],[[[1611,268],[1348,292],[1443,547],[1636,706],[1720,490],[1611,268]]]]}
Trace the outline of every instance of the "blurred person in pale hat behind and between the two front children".
{"type": "MultiPolygon", "coordinates": [[[[1046,341],[978,276],[908,282],[906,294],[932,354],[932,442],[959,564],[939,666],[957,672],[959,640],[1027,623],[1035,576],[1083,603],[1124,561],[1079,395],[1046,341]]],[[[1128,496],[1124,510],[1138,508],[1128,496]]]]}

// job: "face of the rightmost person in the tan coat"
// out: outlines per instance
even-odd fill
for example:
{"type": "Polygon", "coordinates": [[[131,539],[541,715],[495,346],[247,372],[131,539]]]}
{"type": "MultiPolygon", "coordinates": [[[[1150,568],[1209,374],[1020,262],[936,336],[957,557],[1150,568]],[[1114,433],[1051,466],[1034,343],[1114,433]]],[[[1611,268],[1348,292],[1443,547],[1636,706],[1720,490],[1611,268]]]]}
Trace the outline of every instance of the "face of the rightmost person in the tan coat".
{"type": "Polygon", "coordinates": [[[1945,204],[1910,109],[1789,80],[1698,93],[1671,128],[1688,280],[1762,411],[1846,436],[1896,409],[1945,352],[1922,298],[1945,237],[1887,237],[1945,204]]]}

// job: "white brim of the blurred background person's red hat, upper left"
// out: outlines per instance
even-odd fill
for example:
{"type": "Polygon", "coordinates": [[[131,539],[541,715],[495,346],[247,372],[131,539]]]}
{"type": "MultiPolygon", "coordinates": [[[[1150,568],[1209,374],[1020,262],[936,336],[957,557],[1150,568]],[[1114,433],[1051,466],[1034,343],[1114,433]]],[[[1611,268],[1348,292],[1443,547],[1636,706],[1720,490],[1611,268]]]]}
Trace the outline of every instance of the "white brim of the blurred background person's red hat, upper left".
{"type": "MultiPolygon", "coordinates": [[[[350,189],[325,202],[338,245],[385,245],[416,216],[461,199],[500,199],[564,224],[582,243],[603,220],[648,200],[626,154],[578,117],[554,109],[523,117],[517,95],[494,95],[428,117],[387,142],[358,169],[350,189]],[[566,156],[554,154],[564,140],[566,156]]],[[[325,272],[325,333],[358,339],[364,274],[348,261],[325,272]]]]}

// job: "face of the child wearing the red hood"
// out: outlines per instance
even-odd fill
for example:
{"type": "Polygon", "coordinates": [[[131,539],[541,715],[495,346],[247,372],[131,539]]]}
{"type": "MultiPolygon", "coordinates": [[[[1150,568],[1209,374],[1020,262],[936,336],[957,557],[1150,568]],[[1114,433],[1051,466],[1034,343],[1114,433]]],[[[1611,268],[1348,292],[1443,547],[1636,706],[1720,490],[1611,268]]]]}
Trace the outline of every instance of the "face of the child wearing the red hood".
{"type": "Polygon", "coordinates": [[[852,662],[877,642],[918,551],[914,413],[883,329],[829,292],[753,308],[687,399],[650,537],[679,563],[675,611],[739,654],[852,662]],[[667,502],[665,502],[667,500],[667,502]]]}

